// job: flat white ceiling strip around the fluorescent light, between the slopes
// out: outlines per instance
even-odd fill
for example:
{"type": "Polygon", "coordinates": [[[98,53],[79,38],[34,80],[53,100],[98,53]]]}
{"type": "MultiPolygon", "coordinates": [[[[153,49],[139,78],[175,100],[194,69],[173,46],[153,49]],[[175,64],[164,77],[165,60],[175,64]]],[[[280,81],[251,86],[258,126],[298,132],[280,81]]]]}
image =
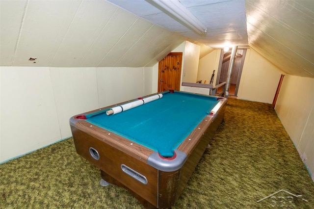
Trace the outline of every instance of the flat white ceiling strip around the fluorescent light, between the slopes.
{"type": "Polygon", "coordinates": [[[136,6],[125,0],[108,1],[159,26],[199,43],[204,43],[211,48],[222,48],[226,44],[231,45],[234,41],[237,45],[248,45],[244,0],[180,0],[183,6],[208,27],[206,35],[198,35],[192,32],[164,12],[156,10],[153,5],[145,0],[131,1],[136,6]],[[142,11],[142,8],[145,8],[145,12],[142,11]],[[219,40],[212,38],[213,36],[219,36],[219,40]]]}

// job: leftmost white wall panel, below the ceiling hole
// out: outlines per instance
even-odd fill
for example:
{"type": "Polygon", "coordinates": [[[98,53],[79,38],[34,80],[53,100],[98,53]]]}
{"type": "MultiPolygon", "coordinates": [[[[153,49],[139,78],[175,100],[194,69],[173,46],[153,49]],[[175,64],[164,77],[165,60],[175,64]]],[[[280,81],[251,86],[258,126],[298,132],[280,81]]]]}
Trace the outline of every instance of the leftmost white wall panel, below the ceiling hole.
{"type": "Polygon", "coordinates": [[[1,160],[61,138],[48,67],[1,67],[1,160]]]}

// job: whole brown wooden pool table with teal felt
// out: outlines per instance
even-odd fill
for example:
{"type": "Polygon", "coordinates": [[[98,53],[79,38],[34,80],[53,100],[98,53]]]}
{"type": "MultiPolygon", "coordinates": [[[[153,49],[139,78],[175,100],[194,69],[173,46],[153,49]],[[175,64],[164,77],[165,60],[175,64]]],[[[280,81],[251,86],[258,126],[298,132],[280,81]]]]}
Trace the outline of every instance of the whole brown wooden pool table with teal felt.
{"type": "Polygon", "coordinates": [[[169,90],[71,117],[77,153],[108,183],[145,208],[171,208],[210,138],[227,99],[169,90]]]}

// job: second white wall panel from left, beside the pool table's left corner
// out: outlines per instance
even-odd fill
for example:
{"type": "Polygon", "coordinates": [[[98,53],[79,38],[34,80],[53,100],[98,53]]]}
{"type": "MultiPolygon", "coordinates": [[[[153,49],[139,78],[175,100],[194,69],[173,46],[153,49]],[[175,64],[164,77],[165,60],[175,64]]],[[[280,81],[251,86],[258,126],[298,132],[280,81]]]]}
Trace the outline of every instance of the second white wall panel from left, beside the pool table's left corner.
{"type": "MultiPolygon", "coordinates": [[[[52,85],[54,98],[52,104],[57,110],[58,123],[55,126],[60,130],[58,139],[62,139],[72,135],[69,129],[71,116],[100,107],[97,82],[95,82],[97,78],[96,68],[49,68],[48,70],[50,78],[47,83],[52,85]]],[[[33,85],[40,87],[38,84],[33,85]]],[[[44,134],[42,137],[34,138],[34,140],[41,141],[43,138],[45,138],[44,134]]],[[[55,141],[52,140],[52,142],[55,141]]]]}

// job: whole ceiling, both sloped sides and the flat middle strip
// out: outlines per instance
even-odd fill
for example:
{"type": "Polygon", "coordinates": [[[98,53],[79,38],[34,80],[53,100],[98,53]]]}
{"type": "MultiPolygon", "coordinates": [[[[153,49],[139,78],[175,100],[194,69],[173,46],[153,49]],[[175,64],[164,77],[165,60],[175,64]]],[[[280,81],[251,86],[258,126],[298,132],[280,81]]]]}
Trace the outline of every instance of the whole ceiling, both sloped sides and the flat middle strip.
{"type": "Polygon", "coordinates": [[[152,66],[190,40],[206,52],[250,46],[282,71],[314,78],[314,0],[180,2],[206,35],[146,0],[0,0],[0,66],[152,66]]]}

